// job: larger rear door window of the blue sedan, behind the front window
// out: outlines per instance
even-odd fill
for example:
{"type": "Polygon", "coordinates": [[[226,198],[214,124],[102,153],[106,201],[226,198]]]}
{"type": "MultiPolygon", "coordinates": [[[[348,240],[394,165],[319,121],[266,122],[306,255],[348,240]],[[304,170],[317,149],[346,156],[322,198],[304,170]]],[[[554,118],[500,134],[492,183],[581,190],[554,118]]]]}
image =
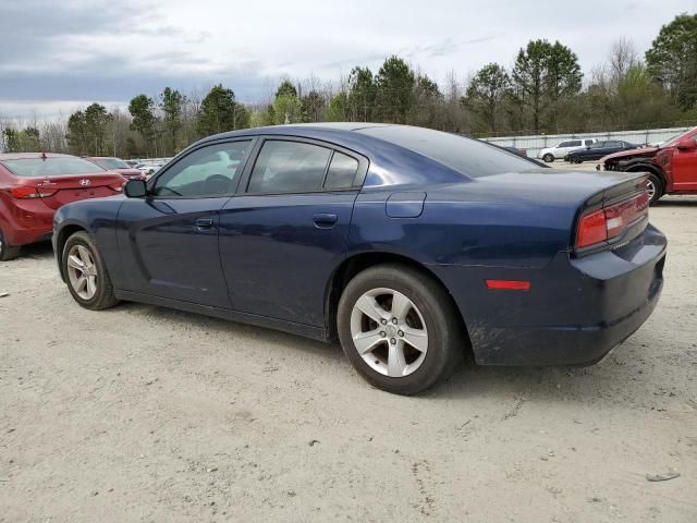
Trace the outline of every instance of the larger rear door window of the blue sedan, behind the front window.
{"type": "Polygon", "coordinates": [[[321,191],[331,149],[301,142],[267,141],[252,171],[249,193],[321,191]]]}

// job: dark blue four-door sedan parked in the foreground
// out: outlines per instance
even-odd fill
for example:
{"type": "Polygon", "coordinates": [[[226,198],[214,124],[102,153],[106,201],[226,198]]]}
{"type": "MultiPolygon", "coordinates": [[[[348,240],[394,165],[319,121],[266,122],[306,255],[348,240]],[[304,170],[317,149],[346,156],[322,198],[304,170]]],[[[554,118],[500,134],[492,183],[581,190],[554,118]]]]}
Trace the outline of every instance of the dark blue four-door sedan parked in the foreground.
{"type": "Polygon", "coordinates": [[[413,394],[482,365],[590,364],[653,311],[665,238],[646,175],[541,168],[431,130],[219,134],[123,196],[56,215],[60,273],[119,300],[339,339],[413,394]]]}

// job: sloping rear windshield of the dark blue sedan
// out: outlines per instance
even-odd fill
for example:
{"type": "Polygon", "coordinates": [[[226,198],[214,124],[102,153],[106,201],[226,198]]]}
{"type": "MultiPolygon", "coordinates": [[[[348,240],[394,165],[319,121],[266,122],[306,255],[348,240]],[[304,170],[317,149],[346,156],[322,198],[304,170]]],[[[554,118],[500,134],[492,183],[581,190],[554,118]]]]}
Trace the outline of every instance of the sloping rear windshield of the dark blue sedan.
{"type": "Polygon", "coordinates": [[[414,150],[470,178],[535,169],[529,161],[512,153],[431,129],[388,125],[357,132],[414,150]]]}

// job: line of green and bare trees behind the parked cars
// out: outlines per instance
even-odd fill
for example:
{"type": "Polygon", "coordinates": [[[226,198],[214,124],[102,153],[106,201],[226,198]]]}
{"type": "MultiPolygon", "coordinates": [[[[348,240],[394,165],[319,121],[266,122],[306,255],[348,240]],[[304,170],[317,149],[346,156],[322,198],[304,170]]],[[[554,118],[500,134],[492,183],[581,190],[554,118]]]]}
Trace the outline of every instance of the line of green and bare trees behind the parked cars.
{"type": "Polygon", "coordinates": [[[697,15],[661,27],[641,57],[619,38],[584,74],[560,41],[530,40],[512,65],[489,63],[439,85],[404,59],[377,72],[355,66],[338,83],[283,78],[262,104],[243,104],[221,84],[201,95],[166,87],[108,110],[93,104],[65,121],[20,125],[0,119],[5,151],[168,157],[210,134],[259,125],[354,121],[421,125],[478,137],[640,129],[697,121],[697,15]]]}

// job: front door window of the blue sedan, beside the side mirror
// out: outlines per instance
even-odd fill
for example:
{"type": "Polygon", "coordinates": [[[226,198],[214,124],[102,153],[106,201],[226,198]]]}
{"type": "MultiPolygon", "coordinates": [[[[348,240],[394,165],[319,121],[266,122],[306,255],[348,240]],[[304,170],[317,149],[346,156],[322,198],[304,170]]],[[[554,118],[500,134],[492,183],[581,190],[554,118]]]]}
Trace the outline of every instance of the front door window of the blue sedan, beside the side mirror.
{"type": "Polygon", "coordinates": [[[196,149],[158,177],[151,193],[184,198],[232,195],[250,144],[250,141],[228,142],[196,149]]]}

